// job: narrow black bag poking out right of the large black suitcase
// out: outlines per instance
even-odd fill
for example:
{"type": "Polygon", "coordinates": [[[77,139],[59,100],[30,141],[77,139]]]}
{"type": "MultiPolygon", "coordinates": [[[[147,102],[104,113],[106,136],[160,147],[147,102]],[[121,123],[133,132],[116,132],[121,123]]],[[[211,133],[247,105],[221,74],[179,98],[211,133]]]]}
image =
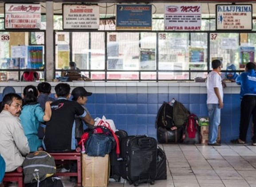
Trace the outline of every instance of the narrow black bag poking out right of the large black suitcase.
{"type": "Polygon", "coordinates": [[[157,174],[156,174],[155,180],[166,180],[166,179],[167,179],[166,156],[165,156],[165,152],[158,147],[157,174]]]}

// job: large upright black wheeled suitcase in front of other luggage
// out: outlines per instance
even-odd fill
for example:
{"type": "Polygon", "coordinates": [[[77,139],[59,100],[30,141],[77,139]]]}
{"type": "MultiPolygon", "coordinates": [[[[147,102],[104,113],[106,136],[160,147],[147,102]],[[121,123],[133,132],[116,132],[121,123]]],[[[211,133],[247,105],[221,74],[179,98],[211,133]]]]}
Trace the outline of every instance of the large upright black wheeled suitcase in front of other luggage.
{"type": "Polygon", "coordinates": [[[127,136],[122,140],[122,178],[137,187],[154,184],[157,168],[157,141],[148,136],[127,136]]]}

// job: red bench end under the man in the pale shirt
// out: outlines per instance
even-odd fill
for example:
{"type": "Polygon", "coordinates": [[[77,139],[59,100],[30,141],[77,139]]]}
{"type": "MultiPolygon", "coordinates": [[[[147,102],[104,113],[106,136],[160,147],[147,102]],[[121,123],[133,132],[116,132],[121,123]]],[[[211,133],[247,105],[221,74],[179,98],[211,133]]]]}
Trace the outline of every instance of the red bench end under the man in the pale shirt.
{"type": "Polygon", "coordinates": [[[24,187],[23,183],[23,169],[22,167],[18,167],[15,171],[6,172],[4,174],[3,182],[18,182],[18,187],[24,187]]]}

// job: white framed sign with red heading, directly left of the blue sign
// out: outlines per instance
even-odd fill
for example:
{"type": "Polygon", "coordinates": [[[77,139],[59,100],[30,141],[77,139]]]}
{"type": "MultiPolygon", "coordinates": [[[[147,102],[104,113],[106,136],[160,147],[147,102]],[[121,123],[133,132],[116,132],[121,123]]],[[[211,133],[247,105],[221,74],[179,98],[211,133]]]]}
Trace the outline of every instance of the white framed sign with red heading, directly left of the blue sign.
{"type": "Polygon", "coordinates": [[[63,4],[63,29],[98,29],[97,5],[63,4]]]}

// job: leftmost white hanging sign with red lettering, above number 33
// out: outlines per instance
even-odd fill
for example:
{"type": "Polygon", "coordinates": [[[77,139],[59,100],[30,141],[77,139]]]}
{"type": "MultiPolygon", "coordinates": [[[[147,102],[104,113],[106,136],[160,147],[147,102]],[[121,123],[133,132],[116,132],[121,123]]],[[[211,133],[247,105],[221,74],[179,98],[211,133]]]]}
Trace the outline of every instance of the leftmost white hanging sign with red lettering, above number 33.
{"type": "Polygon", "coordinates": [[[4,4],[5,29],[39,29],[40,27],[40,4],[4,4]]]}

